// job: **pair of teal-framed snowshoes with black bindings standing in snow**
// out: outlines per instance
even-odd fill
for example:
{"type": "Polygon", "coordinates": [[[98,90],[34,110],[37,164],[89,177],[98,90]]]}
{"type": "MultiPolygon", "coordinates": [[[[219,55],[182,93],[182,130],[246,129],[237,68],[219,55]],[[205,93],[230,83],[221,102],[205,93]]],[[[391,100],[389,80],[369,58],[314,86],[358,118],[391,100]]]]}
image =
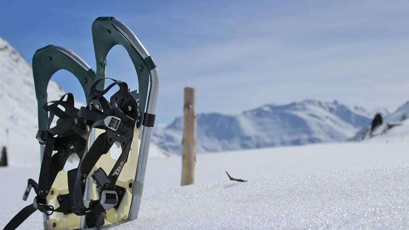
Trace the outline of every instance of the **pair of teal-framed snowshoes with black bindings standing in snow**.
{"type": "Polygon", "coordinates": [[[102,228],[138,216],[155,120],[156,66],[138,38],[117,19],[97,18],[92,32],[96,73],[62,47],[48,45],[34,54],[40,175],[38,183],[28,180],[23,196],[27,200],[34,190],[33,203],[4,229],[17,228],[37,210],[43,213],[44,229],[102,228]],[[138,90],[130,91],[127,83],[105,78],[106,56],[117,44],[131,58],[138,90]],[[72,94],[47,103],[48,83],[59,70],[69,71],[79,80],[86,107],[75,108],[72,94]],[[105,80],[113,83],[104,89],[105,80]],[[116,85],[119,90],[108,101],[104,95],[116,85]],[[119,156],[112,157],[112,146],[121,147],[119,156]],[[73,155],[79,158],[78,167],[64,169],[73,155]]]}

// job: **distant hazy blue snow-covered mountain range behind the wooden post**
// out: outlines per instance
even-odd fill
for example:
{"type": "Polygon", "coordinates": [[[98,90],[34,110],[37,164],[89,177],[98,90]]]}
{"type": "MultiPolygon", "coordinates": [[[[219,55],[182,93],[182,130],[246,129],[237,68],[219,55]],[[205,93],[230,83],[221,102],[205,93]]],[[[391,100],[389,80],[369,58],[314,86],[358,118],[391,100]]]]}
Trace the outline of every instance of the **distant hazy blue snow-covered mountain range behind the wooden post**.
{"type": "MultiPolygon", "coordinates": [[[[237,115],[197,115],[197,152],[253,149],[274,146],[345,141],[371,114],[361,107],[305,100],[285,105],[264,105],[237,115]]],[[[154,131],[153,142],[169,152],[181,152],[183,119],[154,131]]]]}

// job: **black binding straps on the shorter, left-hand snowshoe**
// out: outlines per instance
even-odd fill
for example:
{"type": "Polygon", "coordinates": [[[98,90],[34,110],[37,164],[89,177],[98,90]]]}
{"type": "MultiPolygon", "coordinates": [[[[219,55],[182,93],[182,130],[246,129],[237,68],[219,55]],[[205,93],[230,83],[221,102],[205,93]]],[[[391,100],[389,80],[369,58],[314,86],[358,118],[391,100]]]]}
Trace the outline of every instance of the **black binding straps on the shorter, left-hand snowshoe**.
{"type": "Polygon", "coordinates": [[[15,229],[35,210],[46,215],[51,215],[53,212],[68,212],[71,210],[71,204],[60,205],[57,210],[54,210],[54,206],[47,205],[46,197],[69,155],[72,153],[77,153],[79,156],[82,155],[86,145],[86,126],[77,118],[78,109],[74,107],[74,96],[72,94],[65,94],[59,100],[45,104],[43,109],[50,112],[50,116],[48,119],[48,129],[37,132],[37,139],[40,144],[45,144],[38,184],[33,179],[28,180],[23,200],[27,200],[32,188],[37,196],[32,204],[26,206],[26,208],[14,216],[5,229],[15,229]],[[59,108],[59,106],[62,106],[64,110],[59,108]],[[51,128],[55,117],[59,119],[56,125],[51,128]],[[57,152],[53,154],[53,151],[57,152]]]}

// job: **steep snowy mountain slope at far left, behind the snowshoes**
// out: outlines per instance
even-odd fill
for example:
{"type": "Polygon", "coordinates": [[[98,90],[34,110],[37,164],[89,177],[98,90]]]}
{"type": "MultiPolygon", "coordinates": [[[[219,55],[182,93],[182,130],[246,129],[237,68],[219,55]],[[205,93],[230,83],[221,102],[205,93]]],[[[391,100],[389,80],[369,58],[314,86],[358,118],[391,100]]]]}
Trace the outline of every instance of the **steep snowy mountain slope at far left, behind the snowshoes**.
{"type": "MultiPolygon", "coordinates": [[[[8,145],[9,164],[39,162],[37,101],[31,66],[8,43],[0,38],[0,144],[8,145]],[[6,129],[10,140],[7,140],[6,129]]],[[[65,91],[50,81],[48,98],[60,98],[65,91]]],[[[77,104],[78,105],[78,104],[77,104]]]]}

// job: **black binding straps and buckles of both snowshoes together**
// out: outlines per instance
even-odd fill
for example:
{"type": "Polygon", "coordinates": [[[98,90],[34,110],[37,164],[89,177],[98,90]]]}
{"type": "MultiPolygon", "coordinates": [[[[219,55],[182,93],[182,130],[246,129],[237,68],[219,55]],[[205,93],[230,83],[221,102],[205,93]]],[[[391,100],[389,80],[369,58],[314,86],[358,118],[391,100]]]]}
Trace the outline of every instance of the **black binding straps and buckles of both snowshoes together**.
{"type": "MultiPolygon", "coordinates": [[[[111,79],[113,83],[106,89],[97,90],[96,85],[102,80],[104,79],[93,84],[88,95],[89,101],[98,100],[101,105],[100,109],[92,104],[79,110],[76,109],[72,94],[66,94],[60,100],[49,102],[43,106],[44,110],[50,112],[50,116],[48,129],[39,130],[37,133],[40,144],[45,145],[39,183],[37,184],[32,179],[28,180],[24,199],[27,199],[32,188],[37,196],[33,204],[21,210],[10,221],[6,226],[9,227],[7,229],[17,227],[35,210],[47,215],[51,215],[53,212],[85,215],[87,227],[100,228],[104,224],[104,212],[119,207],[125,189],[117,186],[116,182],[127,162],[134,127],[140,117],[140,112],[138,111],[138,101],[129,93],[125,82],[111,79]],[[119,90],[112,95],[108,102],[103,96],[115,85],[119,86],[119,90]],[[57,124],[51,127],[55,117],[59,119],[57,124]],[[89,129],[86,125],[89,126],[89,129]],[[93,128],[104,129],[105,132],[100,134],[87,150],[87,140],[93,128]],[[100,199],[90,202],[86,208],[83,200],[84,180],[100,157],[106,154],[114,143],[120,143],[122,153],[109,174],[102,168],[93,172],[92,178],[97,182],[100,199]],[[53,154],[53,151],[57,152],[53,154]],[[57,196],[60,205],[54,209],[54,206],[47,205],[47,195],[58,172],[63,170],[67,157],[72,153],[77,153],[81,160],[78,168],[67,172],[69,193],[57,196]]],[[[152,127],[154,120],[153,114],[146,114],[145,126],[152,127]]]]}

